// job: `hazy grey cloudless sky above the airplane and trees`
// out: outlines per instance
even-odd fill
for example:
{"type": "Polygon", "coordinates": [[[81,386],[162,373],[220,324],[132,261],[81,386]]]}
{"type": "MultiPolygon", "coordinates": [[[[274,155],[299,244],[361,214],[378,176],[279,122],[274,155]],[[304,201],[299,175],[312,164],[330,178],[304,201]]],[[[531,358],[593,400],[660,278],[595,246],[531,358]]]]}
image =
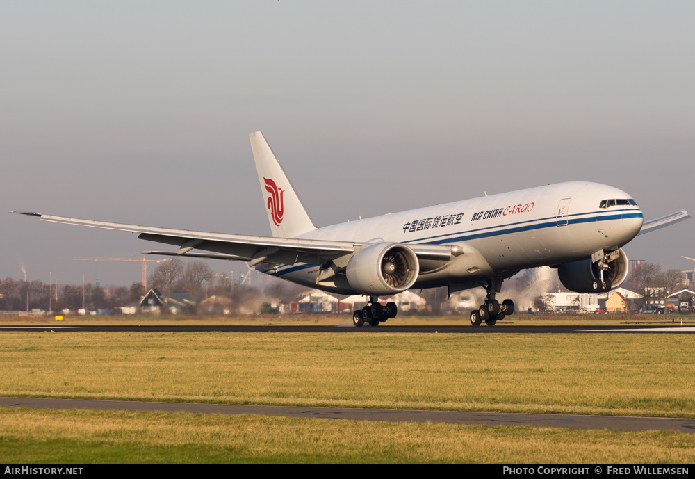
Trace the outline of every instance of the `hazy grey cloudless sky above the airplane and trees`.
{"type": "MultiPolygon", "coordinates": [[[[694,21],[692,1],[4,1],[0,202],[268,235],[261,130],[319,226],[573,179],[694,213],[694,21]]],[[[0,231],[0,277],[60,284],[139,281],[72,258],[163,247],[6,213],[0,231]]],[[[694,232],[625,250],[692,268],[694,232]]]]}

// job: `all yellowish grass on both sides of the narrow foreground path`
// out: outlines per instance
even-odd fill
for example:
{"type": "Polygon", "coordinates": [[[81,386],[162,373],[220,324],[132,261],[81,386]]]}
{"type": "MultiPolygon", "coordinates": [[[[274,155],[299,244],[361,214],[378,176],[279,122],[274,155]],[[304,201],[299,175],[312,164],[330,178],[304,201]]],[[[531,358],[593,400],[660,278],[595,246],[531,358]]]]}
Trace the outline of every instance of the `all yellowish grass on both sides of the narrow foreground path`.
{"type": "MultiPolygon", "coordinates": [[[[2,396],[695,416],[690,335],[3,332],[1,338],[2,396]]],[[[8,408],[1,410],[0,437],[3,462],[695,460],[694,435],[671,432],[258,416],[8,408]],[[245,430],[259,439],[250,443],[245,430]],[[56,453],[67,445],[75,455],[56,453]],[[100,453],[102,446],[111,453],[100,453]]]]}

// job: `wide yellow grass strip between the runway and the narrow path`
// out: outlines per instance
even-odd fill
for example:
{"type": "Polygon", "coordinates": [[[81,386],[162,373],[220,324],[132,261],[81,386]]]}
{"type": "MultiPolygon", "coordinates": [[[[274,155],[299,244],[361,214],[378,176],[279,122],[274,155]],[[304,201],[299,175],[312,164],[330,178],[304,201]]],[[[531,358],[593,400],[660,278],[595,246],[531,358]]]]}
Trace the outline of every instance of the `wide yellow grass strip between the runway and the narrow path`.
{"type": "Polygon", "coordinates": [[[0,395],[695,416],[689,335],[23,333],[0,395]]]}

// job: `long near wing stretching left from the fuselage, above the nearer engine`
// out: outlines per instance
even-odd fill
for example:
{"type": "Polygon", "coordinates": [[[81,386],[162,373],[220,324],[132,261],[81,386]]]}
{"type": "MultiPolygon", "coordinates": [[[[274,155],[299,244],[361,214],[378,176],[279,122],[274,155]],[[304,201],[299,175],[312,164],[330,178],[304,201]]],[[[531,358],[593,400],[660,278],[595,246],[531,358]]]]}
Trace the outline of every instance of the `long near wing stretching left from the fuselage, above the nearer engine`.
{"type": "MultiPolygon", "coordinates": [[[[259,263],[324,263],[345,254],[351,254],[365,245],[365,243],[353,243],[352,241],[270,238],[266,236],[195,232],[188,229],[124,225],[122,223],[80,220],[78,218],[52,216],[28,211],[10,211],[10,213],[35,216],[42,221],[63,223],[65,225],[116,229],[138,233],[138,238],[140,239],[179,247],[177,252],[153,251],[149,252],[150,254],[250,261],[250,266],[255,266],[259,263]],[[194,248],[211,253],[189,253],[194,248]]],[[[409,245],[409,247],[421,259],[448,261],[451,255],[451,247],[447,245],[409,245]]]]}

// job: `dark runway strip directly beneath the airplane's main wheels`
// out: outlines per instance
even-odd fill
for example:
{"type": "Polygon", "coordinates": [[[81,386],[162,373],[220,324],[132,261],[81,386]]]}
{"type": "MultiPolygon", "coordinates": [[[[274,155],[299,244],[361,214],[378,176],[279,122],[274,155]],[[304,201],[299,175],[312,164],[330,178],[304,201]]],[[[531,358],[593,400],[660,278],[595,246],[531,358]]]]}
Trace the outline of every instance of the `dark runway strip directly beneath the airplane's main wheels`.
{"type": "Polygon", "coordinates": [[[658,334],[694,334],[695,327],[680,326],[678,323],[667,325],[500,325],[479,326],[470,325],[379,325],[370,327],[354,327],[353,325],[3,325],[0,331],[34,331],[34,332],[305,332],[305,333],[346,333],[346,334],[379,334],[379,333],[431,333],[431,334],[576,334],[576,333],[658,333],[658,334]]]}

